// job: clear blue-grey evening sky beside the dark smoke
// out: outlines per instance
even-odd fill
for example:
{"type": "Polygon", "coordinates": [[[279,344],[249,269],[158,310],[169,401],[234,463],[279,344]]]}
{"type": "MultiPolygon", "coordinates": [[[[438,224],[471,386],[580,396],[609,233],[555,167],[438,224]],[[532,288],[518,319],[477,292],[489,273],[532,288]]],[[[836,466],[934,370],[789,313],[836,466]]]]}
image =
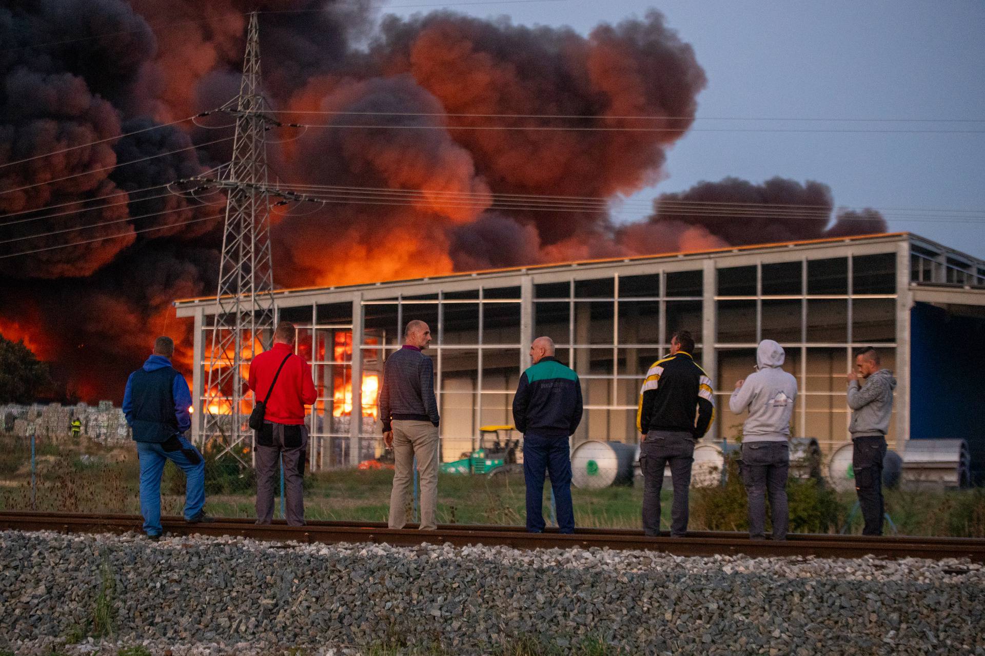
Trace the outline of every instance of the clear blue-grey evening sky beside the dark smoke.
{"type": "MultiPolygon", "coordinates": [[[[452,0],[464,2],[466,0],[452,0]]],[[[419,4],[391,0],[391,5],[419,4]]],[[[429,4],[421,0],[420,4],[429,4]]],[[[435,2],[436,4],[436,2],[435,2]]],[[[646,214],[656,193],[727,175],[830,185],[836,205],[972,210],[975,223],[893,220],[985,257],[985,2],[981,0],[570,0],[449,5],[523,25],[588,33],[661,11],[708,76],[695,128],[980,130],[977,134],[691,131],[671,150],[667,179],[634,196],[620,219],[646,214]],[[737,118],[972,119],[982,122],[722,121],[737,118]]],[[[436,9],[436,8],[435,8],[436,9]]],[[[393,7],[410,15],[431,8],[393,7]]]]}

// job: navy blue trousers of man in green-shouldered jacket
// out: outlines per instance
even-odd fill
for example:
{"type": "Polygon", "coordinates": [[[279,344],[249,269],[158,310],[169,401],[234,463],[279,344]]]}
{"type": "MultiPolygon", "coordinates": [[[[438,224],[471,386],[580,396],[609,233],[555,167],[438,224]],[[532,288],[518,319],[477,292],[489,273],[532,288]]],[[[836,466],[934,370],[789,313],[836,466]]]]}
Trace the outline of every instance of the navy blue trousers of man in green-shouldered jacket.
{"type": "Polygon", "coordinates": [[[527,484],[527,531],[544,531],[544,474],[551,475],[561,533],[574,533],[571,454],[567,437],[523,436],[523,478],[527,484]]]}

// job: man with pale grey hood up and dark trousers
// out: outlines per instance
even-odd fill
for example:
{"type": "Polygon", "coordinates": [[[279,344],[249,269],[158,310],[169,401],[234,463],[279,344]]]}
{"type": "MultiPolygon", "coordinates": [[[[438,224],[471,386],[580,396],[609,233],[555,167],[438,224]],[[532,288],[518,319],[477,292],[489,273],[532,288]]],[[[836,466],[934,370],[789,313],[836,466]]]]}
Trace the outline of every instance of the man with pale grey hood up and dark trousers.
{"type": "Polygon", "coordinates": [[[749,495],[749,534],[762,540],[766,532],[766,491],[773,515],[773,540],[787,539],[787,473],[790,471],[790,417],[797,398],[797,379],[782,368],[786,354],[773,340],[762,340],[755,352],[756,371],[736,383],[729,399],[735,413],[749,411],[743,425],[743,483],[749,495]]]}

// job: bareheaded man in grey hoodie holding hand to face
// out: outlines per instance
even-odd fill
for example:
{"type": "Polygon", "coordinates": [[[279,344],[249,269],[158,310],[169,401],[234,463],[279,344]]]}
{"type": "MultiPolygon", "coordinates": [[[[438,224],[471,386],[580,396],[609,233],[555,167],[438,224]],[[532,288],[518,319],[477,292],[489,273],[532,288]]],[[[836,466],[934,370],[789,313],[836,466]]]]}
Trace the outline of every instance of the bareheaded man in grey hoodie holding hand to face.
{"type": "Polygon", "coordinates": [[[872,347],[855,355],[855,370],[848,373],[848,407],[852,421],[852,471],[865,526],[862,535],[883,535],[883,459],[886,431],[892,416],[892,371],[880,368],[879,354],[872,347]],[[865,381],[859,384],[859,378],[865,381]]]}

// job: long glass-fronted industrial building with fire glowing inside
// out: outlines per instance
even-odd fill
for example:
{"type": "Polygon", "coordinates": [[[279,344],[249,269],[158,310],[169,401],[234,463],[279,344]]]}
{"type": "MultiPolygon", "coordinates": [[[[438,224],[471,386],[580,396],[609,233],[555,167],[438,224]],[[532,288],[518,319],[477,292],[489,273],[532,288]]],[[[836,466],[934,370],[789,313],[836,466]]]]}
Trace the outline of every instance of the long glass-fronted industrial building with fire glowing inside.
{"type": "MultiPolygon", "coordinates": [[[[985,469],[985,261],[906,232],[755,244],[592,260],[416,280],[274,292],[279,318],[298,326],[319,399],[309,417],[313,469],[352,466],[381,440],[376,392],[402,326],[423,319],[434,341],[441,455],[456,460],[481,426],[511,423],[519,373],[533,337],[548,335],[579,374],[585,418],[574,444],[637,441],[642,377],[687,329],[695,361],[715,384],[707,439],[734,439],[728,410],[736,380],[753,371],[762,338],[779,342],[800,395],[793,434],[830,453],[848,439],[845,374],[852,352],[879,349],[898,380],[890,448],[907,440],[962,438],[985,469]],[[361,381],[354,385],[353,381],[361,381]],[[361,422],[353,422],[353,409],[361,422]]],[[[204,389],[215,297],[178,300],[195,321],[193,426],[230,402],[204,389]]],[[[226,410],[224,410],[226,409],[226,410]]],[[[248,412],[246,413],[248,414],[248,412]]]]}

